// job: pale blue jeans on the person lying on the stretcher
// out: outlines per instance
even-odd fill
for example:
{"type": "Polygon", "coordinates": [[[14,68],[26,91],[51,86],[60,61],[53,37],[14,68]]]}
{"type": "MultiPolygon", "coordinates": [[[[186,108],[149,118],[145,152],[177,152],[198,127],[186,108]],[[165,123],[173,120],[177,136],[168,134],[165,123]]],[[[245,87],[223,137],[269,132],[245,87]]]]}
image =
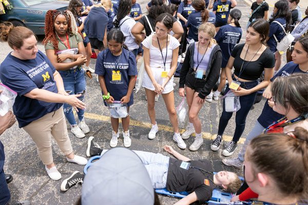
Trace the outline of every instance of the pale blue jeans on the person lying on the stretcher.
{"type": "MultiPolygon", "coordinates": [[[[103,155],[108,150],[103,150],[101,155],[103,155]]],[[[152,152],[143,152],[143,151],[136,151],[136,153],[143,165],[145,166],[151,181],[152,186],[154,189],[164,189],[167,187],[167,174],[168,174],[168,167],[169,167],[169,157],[162,155],[162,154],[155,154],[152,152]]]]}

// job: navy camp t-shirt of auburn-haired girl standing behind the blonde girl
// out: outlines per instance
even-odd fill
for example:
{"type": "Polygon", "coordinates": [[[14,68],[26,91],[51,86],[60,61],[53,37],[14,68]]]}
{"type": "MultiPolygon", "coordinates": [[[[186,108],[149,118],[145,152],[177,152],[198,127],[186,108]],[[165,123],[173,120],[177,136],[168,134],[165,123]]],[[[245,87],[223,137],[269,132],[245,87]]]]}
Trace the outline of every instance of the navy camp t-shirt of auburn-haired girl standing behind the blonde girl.
{"type": "MultiPolygon", "coordinates": [[[[207,22],[215,24],[216,15],[213,12],[209,12],[207,22]]],[[[202,25],[201,11],[196,11],[188,16],[186,27],[189,28],[188,39],[194,39],[198,41],[198,29],[202,25]]]]}

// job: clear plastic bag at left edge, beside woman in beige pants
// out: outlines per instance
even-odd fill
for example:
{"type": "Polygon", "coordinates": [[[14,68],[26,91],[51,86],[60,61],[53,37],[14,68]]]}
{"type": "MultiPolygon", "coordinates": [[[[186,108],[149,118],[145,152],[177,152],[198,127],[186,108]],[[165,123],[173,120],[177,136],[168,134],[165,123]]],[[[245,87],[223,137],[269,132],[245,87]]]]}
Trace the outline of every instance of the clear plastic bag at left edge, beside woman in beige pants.
{"type": "Polygon", "coordinates": [[[0,84],[0,115],[4,116],[13,106],[17,93],[3,84],[0,84]]]}

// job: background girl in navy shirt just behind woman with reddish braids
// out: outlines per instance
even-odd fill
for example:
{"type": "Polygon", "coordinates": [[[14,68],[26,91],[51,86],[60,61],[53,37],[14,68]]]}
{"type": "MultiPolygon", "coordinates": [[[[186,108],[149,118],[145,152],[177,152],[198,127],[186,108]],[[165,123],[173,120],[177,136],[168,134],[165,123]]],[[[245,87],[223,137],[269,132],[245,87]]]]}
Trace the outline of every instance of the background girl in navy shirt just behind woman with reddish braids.
{"type": "Polygon", "coordinates": [[[91,55],[92,55],[92,48],[91,48],[91,44],[90,44],[90,40],[84,30],[84,23],[82,22],[81,19],[81,10],[83,7],[83,2],[81,0],[71,0],[68,4],[67,9],[69,11],[72,12],[72,14],[74,15],[74,18],[76,20],[76,24],[78,26],[78,31],[80,31],[84,37],[83,40],[83,44],[85,46],[86,49],[86,54],[87,54],[87,61],[85,64],[85,71],[90,71],[91,73],[94,73],[94,70],[92,68],[89,67],[90,65],[90,59],[91,59],[91,55]]]}

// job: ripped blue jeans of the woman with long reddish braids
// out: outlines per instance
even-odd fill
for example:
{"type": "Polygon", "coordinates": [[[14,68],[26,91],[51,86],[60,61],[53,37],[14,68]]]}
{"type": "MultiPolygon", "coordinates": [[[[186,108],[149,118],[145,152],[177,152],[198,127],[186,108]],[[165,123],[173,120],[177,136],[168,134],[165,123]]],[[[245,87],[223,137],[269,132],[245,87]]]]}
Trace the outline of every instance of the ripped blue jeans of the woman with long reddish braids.
{"type": "MultiPolygon", "coordinates": [[[[78,97],[78,99],[83,101],[86,92],[86,79],[84,71],[82,69],[76,68],[66,71],[59,71],[59,73],[62,76],[65,91],[70,95],[82,94],[80,97],[78,97]]],[[[76,125],[76,120],[73,114],[72,106],[65,103],[63,105],[63,110],[69,124],[76,125]]],[[[85,113],[84,110],[78,109],[77,114],[79,121],[83,120],[84,113],[85,113]]]]}

